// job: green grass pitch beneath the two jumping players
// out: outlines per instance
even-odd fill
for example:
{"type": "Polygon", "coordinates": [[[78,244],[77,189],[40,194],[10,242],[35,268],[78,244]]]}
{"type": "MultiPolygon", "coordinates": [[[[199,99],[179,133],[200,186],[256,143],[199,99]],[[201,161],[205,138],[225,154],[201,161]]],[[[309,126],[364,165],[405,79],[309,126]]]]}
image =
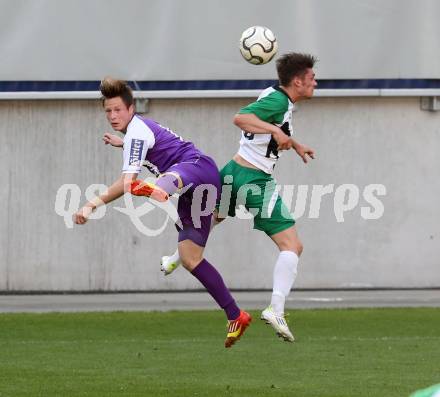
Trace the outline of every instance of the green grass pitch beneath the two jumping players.
{"type": "Polygon", "coordinates": [[[253,312],[231,349],[220,311],[0,315],[0,396],[407,397],[440,381],[440,309],[253,312]]]}

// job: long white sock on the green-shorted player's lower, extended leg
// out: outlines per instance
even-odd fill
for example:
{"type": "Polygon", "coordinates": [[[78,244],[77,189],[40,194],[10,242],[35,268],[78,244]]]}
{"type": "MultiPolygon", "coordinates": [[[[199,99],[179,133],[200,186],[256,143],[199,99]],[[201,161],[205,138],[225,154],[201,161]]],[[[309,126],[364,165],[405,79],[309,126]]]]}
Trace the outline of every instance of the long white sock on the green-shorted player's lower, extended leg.
{"type": "Polygon", "coordinates": [[[273,269],[273,292],[270,302],[276,314],[284,313],[284,304],[295,282],[298,255],[293,251],[281,251],[273,269]]]}

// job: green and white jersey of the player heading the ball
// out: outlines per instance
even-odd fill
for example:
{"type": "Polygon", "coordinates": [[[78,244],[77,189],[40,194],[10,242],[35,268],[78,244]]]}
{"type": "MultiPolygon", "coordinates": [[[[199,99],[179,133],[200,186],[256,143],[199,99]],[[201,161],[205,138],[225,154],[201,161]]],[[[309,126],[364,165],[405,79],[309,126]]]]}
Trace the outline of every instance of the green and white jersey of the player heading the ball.
{"type": "MultiPolygon", "coordinates": [[[[283,132],[292,135],[293,103],[287,93],[278,85],[266,88],[257,101],[242,108],[240,114],[253,113],[258,118],[280,127],[283,132]]],[[[253,134],[242,131],[238,154],[255,167],[272,174],[280,157],[278,145],[270,133],[253,134]]]]}

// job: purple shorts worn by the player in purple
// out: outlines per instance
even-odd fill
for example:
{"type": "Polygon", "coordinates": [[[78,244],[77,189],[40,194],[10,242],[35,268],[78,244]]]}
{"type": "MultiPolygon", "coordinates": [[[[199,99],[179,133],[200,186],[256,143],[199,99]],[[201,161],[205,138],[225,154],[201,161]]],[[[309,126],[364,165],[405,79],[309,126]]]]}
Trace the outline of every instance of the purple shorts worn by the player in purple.
{"type": "Polygon", "coordinates": [[[208,240],[212,212],[220,198],[220,174],[214,160],[206,155],[172,165],[166,172],[179,174],[183,182],[177,204],[182,227],[176,225],[179,240],[191,240],[204,247],[208,240]]]}

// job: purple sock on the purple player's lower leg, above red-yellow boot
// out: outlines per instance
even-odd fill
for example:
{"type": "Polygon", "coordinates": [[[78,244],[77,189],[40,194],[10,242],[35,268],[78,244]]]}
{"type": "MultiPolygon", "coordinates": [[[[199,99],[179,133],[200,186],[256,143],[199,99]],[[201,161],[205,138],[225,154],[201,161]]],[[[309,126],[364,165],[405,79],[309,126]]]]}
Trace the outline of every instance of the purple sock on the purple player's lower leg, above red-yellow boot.
{"type": "Polygon", "coordinates": [[[225,311],[228,320],[238,318],[240,309],[214,266],[206,259],[202,259],[191,274],[203,284],[217,304],[225,311]]]}

